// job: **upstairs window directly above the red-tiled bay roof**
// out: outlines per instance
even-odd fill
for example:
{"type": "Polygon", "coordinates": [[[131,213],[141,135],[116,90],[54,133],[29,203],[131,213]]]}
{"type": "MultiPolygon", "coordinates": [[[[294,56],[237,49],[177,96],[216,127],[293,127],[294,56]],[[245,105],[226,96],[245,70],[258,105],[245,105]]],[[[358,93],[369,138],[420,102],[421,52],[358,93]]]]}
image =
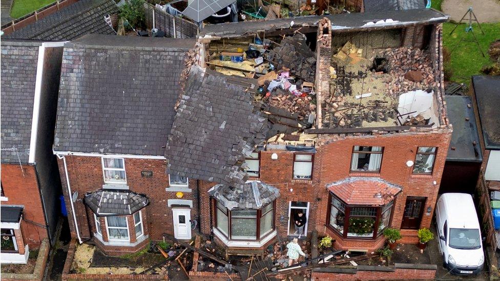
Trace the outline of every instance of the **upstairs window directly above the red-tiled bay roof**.
{"type": "Polygon", "coordinates": [[[380,171],[382,146],[354,146],[351,159],[351,171],[380,171]]]}

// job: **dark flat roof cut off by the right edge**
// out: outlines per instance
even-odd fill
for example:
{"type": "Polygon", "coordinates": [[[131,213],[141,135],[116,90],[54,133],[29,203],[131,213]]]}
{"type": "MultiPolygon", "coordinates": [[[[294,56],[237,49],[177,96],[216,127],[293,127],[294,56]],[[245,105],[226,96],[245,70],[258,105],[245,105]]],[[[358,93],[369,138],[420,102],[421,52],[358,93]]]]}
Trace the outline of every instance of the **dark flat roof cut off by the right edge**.
{"type": "Polygon", "coordinates": [[[472,76],[486,149],[500,149],[500,76],[472,76]]]}

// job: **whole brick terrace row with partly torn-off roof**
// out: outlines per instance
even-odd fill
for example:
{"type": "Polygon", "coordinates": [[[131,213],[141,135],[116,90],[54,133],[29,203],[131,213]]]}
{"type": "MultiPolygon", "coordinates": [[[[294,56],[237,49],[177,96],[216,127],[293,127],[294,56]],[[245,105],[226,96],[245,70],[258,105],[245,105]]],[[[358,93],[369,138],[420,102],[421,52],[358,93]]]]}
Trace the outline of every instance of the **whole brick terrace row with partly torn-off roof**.
{"type": "Polygon", "coordinates": [[[452,131],[447,19],[367,12],[66,44],[54,153],[74,236],[109,254],[166,234],[211,234],[228,254],[313,231],[337,249],[380,248],[387,227],[416,243],[452,131]]]}

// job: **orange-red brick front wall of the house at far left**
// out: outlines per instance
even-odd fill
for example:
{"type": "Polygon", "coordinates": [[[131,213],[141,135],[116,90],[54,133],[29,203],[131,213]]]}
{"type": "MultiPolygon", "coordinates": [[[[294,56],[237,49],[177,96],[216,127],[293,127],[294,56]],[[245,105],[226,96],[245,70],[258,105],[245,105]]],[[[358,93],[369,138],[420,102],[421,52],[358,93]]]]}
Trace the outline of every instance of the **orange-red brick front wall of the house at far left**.
{"type": "MultiPolygon", "coordinates": [[[[2,187],[5,197],[9,200],[2,201],[1,204],[24,205],[23,212],[26,220],[46,225],[38,183],[36,181],[35,167],[23,164],[23,169],[24,175],[19,164],[2,164],[2,187]]],[[[47,238],[47,230],[45,228],[24,220],[21,221],[20,228],[24,244],[28,244],[30,249],[38,248],[41,241],[47,238]]],[[[19,239],[18,237],[16,238],[19,239]]]]}

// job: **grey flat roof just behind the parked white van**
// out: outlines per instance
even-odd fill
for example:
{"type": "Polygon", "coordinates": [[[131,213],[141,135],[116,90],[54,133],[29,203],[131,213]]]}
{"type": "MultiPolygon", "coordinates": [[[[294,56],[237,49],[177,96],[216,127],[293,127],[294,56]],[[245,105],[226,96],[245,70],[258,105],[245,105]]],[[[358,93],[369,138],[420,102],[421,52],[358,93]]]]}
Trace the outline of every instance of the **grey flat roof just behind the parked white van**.
{"type": "Polygon", "coordinates": [[[483,161],[474,109],[472,108],[472,98],[445,96],[445,99],[448,118],[453,125],[453,134],[446,161],[483,161]],[[474,145],[473,142],[476,144],[474,145]]]}

